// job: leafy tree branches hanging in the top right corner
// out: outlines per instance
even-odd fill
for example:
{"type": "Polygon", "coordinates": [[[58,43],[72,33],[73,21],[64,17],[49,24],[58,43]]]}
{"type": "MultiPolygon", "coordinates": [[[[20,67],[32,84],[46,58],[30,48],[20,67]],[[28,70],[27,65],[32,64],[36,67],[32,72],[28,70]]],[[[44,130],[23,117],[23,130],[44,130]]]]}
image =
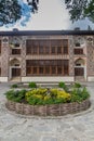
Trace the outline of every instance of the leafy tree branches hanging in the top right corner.
{"type": "Polygon", "coordinates": [[[94,0],[65,0],[72,22],[88,17],[94,22],[94,0]]]}

